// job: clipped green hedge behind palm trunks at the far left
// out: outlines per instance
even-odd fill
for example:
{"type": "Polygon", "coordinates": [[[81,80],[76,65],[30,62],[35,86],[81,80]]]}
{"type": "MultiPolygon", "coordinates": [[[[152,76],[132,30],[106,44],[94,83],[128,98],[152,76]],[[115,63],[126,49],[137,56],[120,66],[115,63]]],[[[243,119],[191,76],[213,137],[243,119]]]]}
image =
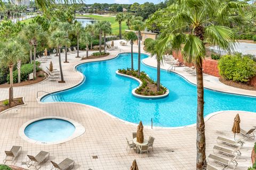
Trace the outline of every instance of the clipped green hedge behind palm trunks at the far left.
{"type": "MultiPolygon", "coordinates": [[[[38,64],[38,63],[37,63],[38,64]]],[[[20,81],[25,81],[28,79],[28,75],[33,73],[34,66],[33,64],[23,64],[20,68],[20,81]]],[[[36,71],[40,71],[40,68],[37,66],[36,71]]],[[[7,75],[7,82],[10,83],[10,74],[7,75]]],[[[13,71],[13,83],[18,82],[18,70],[13,71]]]]}

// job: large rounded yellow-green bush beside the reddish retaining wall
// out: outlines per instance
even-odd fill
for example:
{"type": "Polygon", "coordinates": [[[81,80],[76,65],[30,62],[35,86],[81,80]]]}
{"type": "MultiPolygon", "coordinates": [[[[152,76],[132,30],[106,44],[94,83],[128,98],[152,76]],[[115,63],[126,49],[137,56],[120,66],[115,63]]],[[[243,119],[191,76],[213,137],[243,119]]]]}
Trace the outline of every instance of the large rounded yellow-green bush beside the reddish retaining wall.
{"type": "Polygon", "coordinates": [[[218,68],[223,78],[243,83],[256,75],[256,63],[250,57],[239,54],[222,56],[218,68]]]}

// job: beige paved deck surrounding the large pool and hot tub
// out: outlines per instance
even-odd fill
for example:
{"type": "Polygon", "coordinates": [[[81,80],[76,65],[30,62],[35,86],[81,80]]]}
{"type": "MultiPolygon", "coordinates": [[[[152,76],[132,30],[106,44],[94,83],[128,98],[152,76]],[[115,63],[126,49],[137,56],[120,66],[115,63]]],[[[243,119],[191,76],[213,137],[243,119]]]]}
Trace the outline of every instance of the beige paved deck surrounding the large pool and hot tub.
{"type": "MultiPolygon", "coordinates": [[[[119,44],[115,41],[115,45],[119,44]]],[[[134,52],[138,47],[134,45],[134,52]]],[[[143,50],[142,50],[143,51],[143,50]]],[[[145,138],[149,135],[155,137],[154,152],[150,150],[149,156],[143,154],[140,158],[132,150],[128,154],[126,151],[125,137],[132,139],[132,132],[137,131],[137,126],[124,123],[113,118],[100,109],[76,103],[39,103],[36,99],[37,91],[53,92],[75,86],[83,80],[81,73],[74,71],[74,66],[83,62],[92,62],[114,58],[119,52],[130,52],[130,45],[121,46],[121,50],[111,51],[107,57],[80,61],[75,58],[76,54],[68,55],[69,63],[62,63],[63,75],[66,83],[54,81],[43,81],[26,87],[14,87],[14,97],[24,97],[26,106],[10,109],[0,114],[0,160],[4,158],[4,150],[10,150],[13,145],[22,146],[22,153],[18,158],[17,166],[26,168],[22,162],[26,161],[26,155],[36,155],[39,151],[49,151],[50,160],[60,163],[66,157],[75,160],[74,169],[130,169],[132,161],[137,160],[139,169],[195,169],[196,161],[196,127],[181,129],[147,129],[145,128],[145,138]],[[67,117],[82,124],[85,133],[73,140],[58,145],[36,145],[29,143],[19,136],[20,127],[38,117],[61,116],[67,117]],[[92,156],[98,156],[93,159],[92,156]]],[[[90,52],[91,54],[92,52],[90,52]]],[[[82,52],[81,55],[85,55],[82,52]]],[[[62,56],[64,56],[62,54],[62,56]]],[[[64,61],[64,57],[62,60],[64,61]]],[[[43,69],[48,66],[50,61],[53,67],[59,67],[58,57],[52,57],[47,63],[42,63],[43,69]]],[[[155,66],[153,58],[143,60],[145,64],[155,66]]],[[[167,64],[162,68],[169,67],[167,64]]],[[[195,77],[183,72],[183,68],[178,68],[175,72],[181,74],[190,82],[195,83],[195,77]]],[[[254,95],[255,91],[242,90],[226,86],[210,75],[204,75],[205,87],[226,92],[234,92],[244,95],[254,95]]],[[[44,95],[39,92],[39,95],[44,95]]],[[[0,90],[0,100],[8,98],[8,89],[0,90]]],[[[111,102],[111,101],[110,101],[111,102]]],[[[241,118],[241,128],[249,130],[255,126],[256,114],[249,112],[219,112],[212,117],[208,117],[205,126],[206,134],[206,156],[213,153],[212,148],[217,145],[217,137],[234,138],[231,132],[235,115],[239,113],[241,118]]],[[[196,113],[195,113],[196,116],[196,113]]],[[[237,135],[237,139],[240,135],[237,135]]],[[[251,166],[251,150],[255,140],[245,141],[241,149],[242,156],[238,159],[236,169],[247,169],[251,166]]],[[[50,169],[50,160],[41,169],[50,169]]],[[[9,162],[10,163],[10,162],[9,162]]],[[[34,169],[34,168],[29,168],[34,169]]]]}

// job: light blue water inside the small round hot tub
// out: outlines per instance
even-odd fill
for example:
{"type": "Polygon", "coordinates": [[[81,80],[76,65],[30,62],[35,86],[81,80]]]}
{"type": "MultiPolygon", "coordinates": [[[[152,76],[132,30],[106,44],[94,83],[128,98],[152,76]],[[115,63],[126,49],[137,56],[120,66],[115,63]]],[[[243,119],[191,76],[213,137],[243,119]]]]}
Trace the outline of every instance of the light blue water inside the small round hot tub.
{"type": "Polygon", "coordinates": [[[70,122],[60,119],[44,119],[29,124],[24,133],[30,139],[41,142],[55,142],[67,139],[75,131],[70,122]]]}

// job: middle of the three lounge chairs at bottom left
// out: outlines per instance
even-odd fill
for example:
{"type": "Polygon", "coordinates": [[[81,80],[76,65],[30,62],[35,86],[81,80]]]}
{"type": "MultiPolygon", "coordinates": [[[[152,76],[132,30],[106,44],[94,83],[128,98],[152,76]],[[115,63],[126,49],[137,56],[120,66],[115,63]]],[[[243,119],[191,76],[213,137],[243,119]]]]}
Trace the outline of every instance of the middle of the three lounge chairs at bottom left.
{"type": "Polygon", "coordinates": [[[37,154],[35,157],[34,156],[31,156],[31,155],[27,155],[29,160],[26,162],[26,165],[28,166],[28,168],[30,166],[35,166],[36,169],[39,169],[41,168],[41,165],[43,162],[46,162],[49,157],[50,157],[50,154],[49,152],[46,152],[46,151],[40,151],[39,154],[37,154]],[[37,166],[39,166],[37,168],[37,166]]]}

